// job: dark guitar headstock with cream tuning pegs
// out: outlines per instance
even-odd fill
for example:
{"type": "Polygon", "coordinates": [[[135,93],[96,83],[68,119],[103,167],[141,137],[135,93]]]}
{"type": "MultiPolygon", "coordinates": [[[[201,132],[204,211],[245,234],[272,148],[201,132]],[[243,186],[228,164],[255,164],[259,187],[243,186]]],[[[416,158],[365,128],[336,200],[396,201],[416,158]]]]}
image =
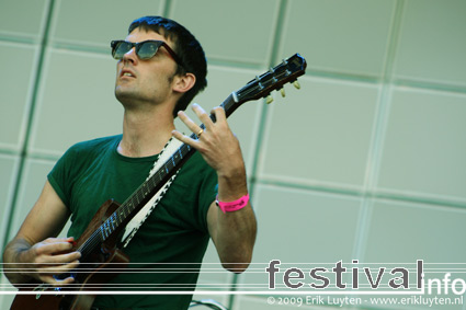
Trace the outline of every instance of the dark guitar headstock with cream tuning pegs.
{"type": "Polygon", "coordinates": [[[249,81],[242,89],[236,92],[237,103],[243,103],[250,100],[268,97],[266,102],[271,102],[270,93],[274,90],[281,90],[282,96],[285,96],[283,85],[291,82],[295,88],[299,89],[297,78],[303,76],[306,70],[306,59],[299,54],[284,59],[280,65],[271,68],[269,71],[255,79],[249,81]]]}

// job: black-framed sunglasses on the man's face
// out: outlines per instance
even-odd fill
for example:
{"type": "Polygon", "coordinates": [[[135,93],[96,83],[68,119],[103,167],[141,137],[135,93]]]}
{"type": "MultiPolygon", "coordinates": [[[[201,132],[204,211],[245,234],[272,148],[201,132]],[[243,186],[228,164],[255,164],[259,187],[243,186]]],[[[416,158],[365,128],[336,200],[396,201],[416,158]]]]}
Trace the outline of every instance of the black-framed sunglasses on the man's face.
{"type": "Polygon", "coordinates": [[[123,39],[116,39],[112,41],[111,46],[112,56],[117,60],[122,59],[123,56],[128,53],[133,47],[136,47],[136,55],[137,57],[139,57],[139,59],[150,59],[157,54],[159,47],[163,46],[170,54],[170,56],[173,58],[173,60],[177,61],[178,65],[184,67],[180,57],[178,57],[173,49],[171,49],[171,47],[168,46],[168,44],[163,41],[148,39],[139,43],[133,43],[123,39]]]}

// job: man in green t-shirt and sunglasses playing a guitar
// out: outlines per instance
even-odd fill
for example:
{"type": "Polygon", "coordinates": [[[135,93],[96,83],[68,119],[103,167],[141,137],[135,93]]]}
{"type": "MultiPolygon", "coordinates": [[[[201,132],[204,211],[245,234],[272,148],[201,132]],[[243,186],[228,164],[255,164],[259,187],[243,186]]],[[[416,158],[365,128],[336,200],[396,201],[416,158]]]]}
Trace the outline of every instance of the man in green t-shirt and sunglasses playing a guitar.
{"type": "MultiPolygon", "coordinates": [[[[209,238],[224,267],[243,272],[251,261],[257,223],[239,142],[224,108],[213,110],[213,122],[194,104],[203,127],[183,112],[206,85],[201,45],[177,22],[146,16],[134,21],[126,38],[112,42],[112,48],[118,60],[115,96],[124,106],[123,135],[77,143],[56,163],[4,250],[4,263],[21,271],[5,273],[9,280],[19,287],[31,280],[72,286],[76,277],[67,273],[89,260],[76,242],[82,240],[93,215],[110,198],[125,202],[144,183],[172,137],[197,152],[179,170],[157,208],[124,249],[132,268],[111,279],[109,287],[194,290],[209,238]],[[177,116],[194,137],[175,130],[177,116]],[[57,238],[69,218],[69,237],[57,238]],[[144,272],[154,263],[167,272],[144,272]],[[61,274],[65,276],[58,276],[61,274]]],[[[99,295],[92,307],[186,309],[191,297],[99,295]]]]}

